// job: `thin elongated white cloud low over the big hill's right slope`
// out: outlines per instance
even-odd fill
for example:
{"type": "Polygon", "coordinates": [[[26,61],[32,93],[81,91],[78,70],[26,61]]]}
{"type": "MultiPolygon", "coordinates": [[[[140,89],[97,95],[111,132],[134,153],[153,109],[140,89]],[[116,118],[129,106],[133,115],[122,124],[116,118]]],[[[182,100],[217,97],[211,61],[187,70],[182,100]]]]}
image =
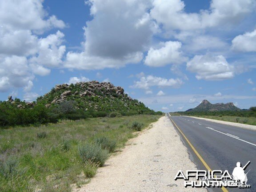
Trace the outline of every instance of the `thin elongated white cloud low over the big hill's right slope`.
{"type": "Polygon", "coordinates": [[[179,88],[182,84],[183,81],[180,79],[165,79],[156,76],[144,76],[141,77],[139,81],[135,81],[135,84],[132,85],[131,88],[149,89],[152,86],[179,88]]]}

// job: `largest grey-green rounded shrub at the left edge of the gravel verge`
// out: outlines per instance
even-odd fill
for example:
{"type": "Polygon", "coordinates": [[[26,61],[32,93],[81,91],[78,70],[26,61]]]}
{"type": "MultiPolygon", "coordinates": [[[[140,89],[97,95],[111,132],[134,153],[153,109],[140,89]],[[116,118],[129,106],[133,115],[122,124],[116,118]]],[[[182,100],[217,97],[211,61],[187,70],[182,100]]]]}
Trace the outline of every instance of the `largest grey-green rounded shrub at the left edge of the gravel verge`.
{"type": "Polygon", "coordinates": [[[84,163],[93,162],[100,167],[104,165],[108,158],[108,151],[102,149],[97,144],[84,144],[78,147],[80,157],[84,163]]]}

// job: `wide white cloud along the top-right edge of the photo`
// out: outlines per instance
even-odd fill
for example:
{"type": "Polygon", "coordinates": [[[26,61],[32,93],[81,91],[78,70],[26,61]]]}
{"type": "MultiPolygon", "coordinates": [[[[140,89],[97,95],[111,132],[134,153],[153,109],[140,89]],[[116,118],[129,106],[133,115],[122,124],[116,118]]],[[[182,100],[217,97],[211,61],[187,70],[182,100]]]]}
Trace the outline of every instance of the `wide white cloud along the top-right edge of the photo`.
{"type": "Polygon", "coordinates": [[[186,13],[181,0],[153,0],[150,15],[169,30],[195,30],[239,23],[255,8],[254,0],[212,0],[209,10],[186,13]],[[175,18],[175,19],[173,19],[175,18]]]}

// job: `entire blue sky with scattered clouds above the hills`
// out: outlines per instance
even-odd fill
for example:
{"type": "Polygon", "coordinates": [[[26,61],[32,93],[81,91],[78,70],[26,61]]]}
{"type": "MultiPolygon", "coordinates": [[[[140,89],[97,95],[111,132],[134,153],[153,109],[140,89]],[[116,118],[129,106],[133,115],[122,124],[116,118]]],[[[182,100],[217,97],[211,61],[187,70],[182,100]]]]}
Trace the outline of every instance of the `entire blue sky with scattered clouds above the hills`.
{"type": "Polygon", "coordinates": [[[0,0],[0,100],[89,80],[156,111],[256,106],[256,0],[0,0]]]}

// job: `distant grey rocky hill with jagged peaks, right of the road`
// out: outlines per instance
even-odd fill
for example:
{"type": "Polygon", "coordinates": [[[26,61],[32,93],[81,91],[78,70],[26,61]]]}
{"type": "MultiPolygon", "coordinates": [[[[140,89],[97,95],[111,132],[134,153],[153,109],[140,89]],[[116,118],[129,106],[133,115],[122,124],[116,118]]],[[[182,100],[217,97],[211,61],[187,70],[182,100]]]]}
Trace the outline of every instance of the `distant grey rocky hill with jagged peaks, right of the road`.
{"type": "Polygon", "coordinates": [[[233,103],[217,103],[211,104],[208,100],[203,100],[196,108],[188,109],[187,112],[202,112],[202,111],[240,111],[233,103]]]}

